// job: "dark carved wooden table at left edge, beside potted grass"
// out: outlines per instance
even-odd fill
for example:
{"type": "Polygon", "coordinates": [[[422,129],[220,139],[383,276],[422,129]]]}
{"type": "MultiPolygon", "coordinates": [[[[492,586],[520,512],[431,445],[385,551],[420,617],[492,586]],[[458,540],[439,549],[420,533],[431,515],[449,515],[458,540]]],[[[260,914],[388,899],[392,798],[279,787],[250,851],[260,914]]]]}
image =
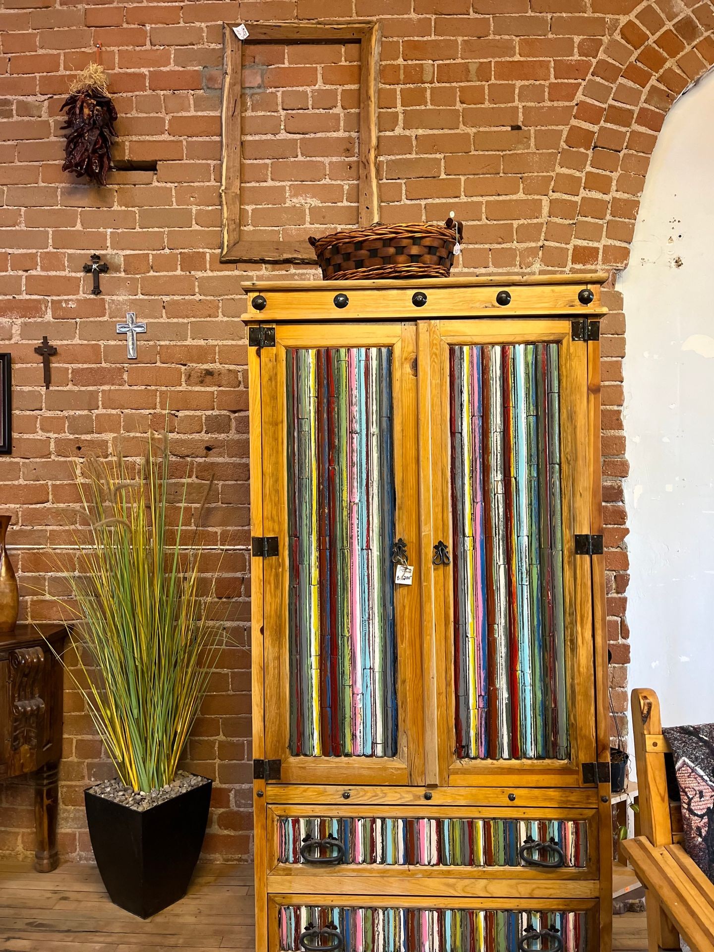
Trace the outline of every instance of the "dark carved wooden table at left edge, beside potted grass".
{"type": "Polygon", "coordinates": [[[0,634],[0,781],[34,774],[40,873],[58,862],[63,669],[52,648],[61,652],[68,633],[65,625],[16,625],[0,634]]]}

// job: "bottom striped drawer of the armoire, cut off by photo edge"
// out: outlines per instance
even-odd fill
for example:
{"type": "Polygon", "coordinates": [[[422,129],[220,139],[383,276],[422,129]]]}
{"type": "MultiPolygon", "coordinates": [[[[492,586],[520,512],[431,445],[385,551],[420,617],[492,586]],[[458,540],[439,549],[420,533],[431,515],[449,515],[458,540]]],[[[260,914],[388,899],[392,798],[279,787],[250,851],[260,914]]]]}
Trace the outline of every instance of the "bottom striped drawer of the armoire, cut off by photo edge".
{"type": "MultiPolygon", "coordinates": [[[[479,903],[445,899],[400,906],[273,899],[270,952],[334,949],[344,952],[595,952],[597,905],[562,901],[479,903]]],[[[310,898],[311,900],[311,898],[310,898]]]]}

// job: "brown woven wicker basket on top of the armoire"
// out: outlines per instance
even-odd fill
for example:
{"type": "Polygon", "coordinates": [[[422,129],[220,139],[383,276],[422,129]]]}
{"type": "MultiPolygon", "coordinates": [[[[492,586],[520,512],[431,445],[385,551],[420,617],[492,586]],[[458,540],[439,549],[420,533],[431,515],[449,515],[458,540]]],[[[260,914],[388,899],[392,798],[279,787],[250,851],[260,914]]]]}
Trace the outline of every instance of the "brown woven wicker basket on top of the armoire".
{"type": "Polygon", "coordinates": [[[463,225],[382,225],[308,238],[325,281],[447,278],[463,225]]]}

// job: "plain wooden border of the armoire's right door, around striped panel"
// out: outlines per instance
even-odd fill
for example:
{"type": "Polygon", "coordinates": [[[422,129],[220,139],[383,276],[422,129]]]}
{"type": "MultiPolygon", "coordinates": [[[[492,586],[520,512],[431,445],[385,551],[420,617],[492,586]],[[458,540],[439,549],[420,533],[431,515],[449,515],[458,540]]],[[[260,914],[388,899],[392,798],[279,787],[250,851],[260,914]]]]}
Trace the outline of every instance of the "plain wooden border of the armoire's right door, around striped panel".
{"type": "MultiPolygon", "coordinates": [[[[561,444],[564,459],[564,576],[565,620],[568,667],[566,680],[568,695],[573,699],[569,711],[571,758],[568,762],[547,760],[472,761],[460,762],[448,756],[454,749],[454,718],[444,713],[453,711],[453,637],[451,608],[451,570],[434,573],[435,601],[440,608],[435,613],[434,647],[426,650],[426,658],[433,656],[446,661],[426,676],[426,684],[434,690],[429,704],[439,712],[435,724],[438,738],[439,785],[501,785],[516,786],[581,786],[584,785],[581,764],[596,760],[596,742],[592,731],[595,723],[595,685],[593,670],[591,578],[589,559],[575,557],[574,536],[590,531],[589,454],[587,448],[588,408],[586,401],[587,348],[574,342],[569,322],[562,318],[514,319],[504,329],[503,321],[484,318],[469,320],[430,321],[419,324],[420,338],[427,338],[430,360],[429,378],[422,380],[420,393],[428,394],[420,407],[420,420],[431,412],[431,465],[425,466],[424,497],[433,503],[431,535],[434,539],[451,538],[451,512],[448,487],[448,347],[459,344],[520,344],[553,343],[560,350],[560,373],[565,398],[565,414],[561,424],[561,444]],[[438,393],[438,399],[434,394],[438,393]],[[443,608],[441,607],[443,606],[443,608]],[[575,685],[578,689],[575,690],[575,685]]],[[[428,737],[428,732],[426,734],[428,737]]],[[[437,744],[435,744],[437,746],[437,744]]],[[[428,753],[426,762],[429,763],[428,753]]]]}

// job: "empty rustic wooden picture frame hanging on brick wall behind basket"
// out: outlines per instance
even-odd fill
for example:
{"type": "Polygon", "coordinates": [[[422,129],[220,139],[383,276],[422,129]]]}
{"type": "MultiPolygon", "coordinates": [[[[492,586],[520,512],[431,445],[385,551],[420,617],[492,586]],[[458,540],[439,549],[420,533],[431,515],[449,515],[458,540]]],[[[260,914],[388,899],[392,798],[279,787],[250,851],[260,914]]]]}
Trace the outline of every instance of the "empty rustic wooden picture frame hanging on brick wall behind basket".
{"type": "Polygon", "coordinates": [[[248,24],[248,39],[245,41],[238,38],[232,24],[224,24],[222,262],[315,263],[314,251],[307,241],[241,239],[241,88],[244,42],[360,44],[359,223],[364,227],[379,219],[377,89],[381,39],[381,25],[371,20],[252,23],[248,24]]]}

